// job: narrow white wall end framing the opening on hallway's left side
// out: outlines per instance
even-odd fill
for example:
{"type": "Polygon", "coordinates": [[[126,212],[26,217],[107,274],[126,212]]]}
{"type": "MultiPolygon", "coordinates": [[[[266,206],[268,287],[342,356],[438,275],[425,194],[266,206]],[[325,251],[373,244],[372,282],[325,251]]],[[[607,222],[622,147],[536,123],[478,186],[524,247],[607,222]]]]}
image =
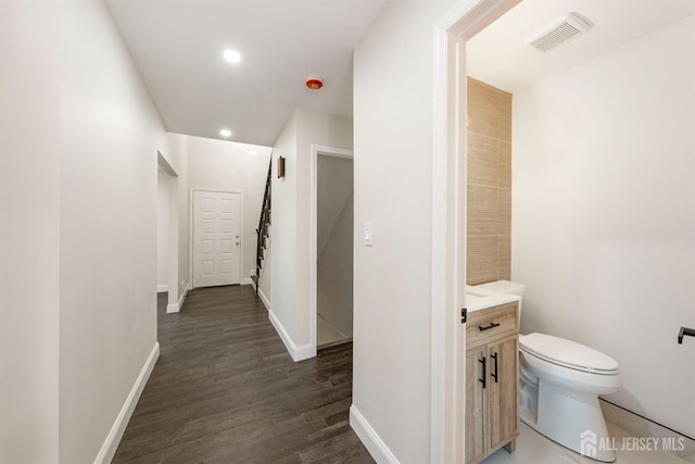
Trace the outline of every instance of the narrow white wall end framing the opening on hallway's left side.
{"type": "MultiPolygon", "coordinates": [[[[157,166],[167,174],[167,193],[168,193],[168,243],[166,246],[168,254],[168,300],[166,304],[167,313],[178,313],[179,311],[179,288],[178,288],[178,183],[179,177],[168,161],[157,151],[157,166]]],[[[182,290],[181,290],[182,291],[182,290]]]]}

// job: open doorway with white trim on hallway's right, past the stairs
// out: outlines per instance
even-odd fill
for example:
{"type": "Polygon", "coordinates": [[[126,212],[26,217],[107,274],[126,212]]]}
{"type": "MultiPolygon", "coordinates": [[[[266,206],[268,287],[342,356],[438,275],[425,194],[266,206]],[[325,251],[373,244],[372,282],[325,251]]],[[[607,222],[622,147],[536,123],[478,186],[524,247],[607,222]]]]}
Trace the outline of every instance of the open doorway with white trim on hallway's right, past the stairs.
{"type": "Polygon", "coordinates": [[[312,147],[312,331],[317,349],[352,341],[352,151],[312,147]]]}

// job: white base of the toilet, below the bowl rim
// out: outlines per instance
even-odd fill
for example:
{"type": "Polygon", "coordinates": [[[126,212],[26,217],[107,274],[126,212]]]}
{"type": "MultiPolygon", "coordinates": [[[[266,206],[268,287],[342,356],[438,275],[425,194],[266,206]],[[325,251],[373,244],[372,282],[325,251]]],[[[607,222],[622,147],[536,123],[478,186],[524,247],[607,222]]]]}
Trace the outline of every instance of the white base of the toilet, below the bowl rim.
{"type": "Polygon", "coordinates": [[[543,379],[538,387],[536,419],[532,412],[522,411],[521,422],[581,455],[605,463],[616,461],[615,451],[605,446],[610,439],[596,394],[568,391],[543,379]]]}

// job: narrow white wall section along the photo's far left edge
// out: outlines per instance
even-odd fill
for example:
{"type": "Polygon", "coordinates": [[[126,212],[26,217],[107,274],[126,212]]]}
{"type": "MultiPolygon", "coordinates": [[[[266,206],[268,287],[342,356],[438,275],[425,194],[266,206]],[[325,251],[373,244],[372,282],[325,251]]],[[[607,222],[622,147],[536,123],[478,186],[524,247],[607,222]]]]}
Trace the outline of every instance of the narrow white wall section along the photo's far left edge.
{"type": "Polygon", "coordinates": [[[60,4],[0,2],[0,462],[58,462],[60,4]]]}

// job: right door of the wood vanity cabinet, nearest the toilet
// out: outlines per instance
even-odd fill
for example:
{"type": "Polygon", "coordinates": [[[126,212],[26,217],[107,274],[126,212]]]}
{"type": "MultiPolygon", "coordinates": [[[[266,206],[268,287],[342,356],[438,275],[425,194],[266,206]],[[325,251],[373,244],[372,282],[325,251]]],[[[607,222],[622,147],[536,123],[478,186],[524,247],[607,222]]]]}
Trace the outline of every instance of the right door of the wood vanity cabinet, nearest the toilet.
{"type": "Polygon", "coordinates": [[[518,338],[488,344],[488,447],[494,451],[518,435],[518,338]]]}

